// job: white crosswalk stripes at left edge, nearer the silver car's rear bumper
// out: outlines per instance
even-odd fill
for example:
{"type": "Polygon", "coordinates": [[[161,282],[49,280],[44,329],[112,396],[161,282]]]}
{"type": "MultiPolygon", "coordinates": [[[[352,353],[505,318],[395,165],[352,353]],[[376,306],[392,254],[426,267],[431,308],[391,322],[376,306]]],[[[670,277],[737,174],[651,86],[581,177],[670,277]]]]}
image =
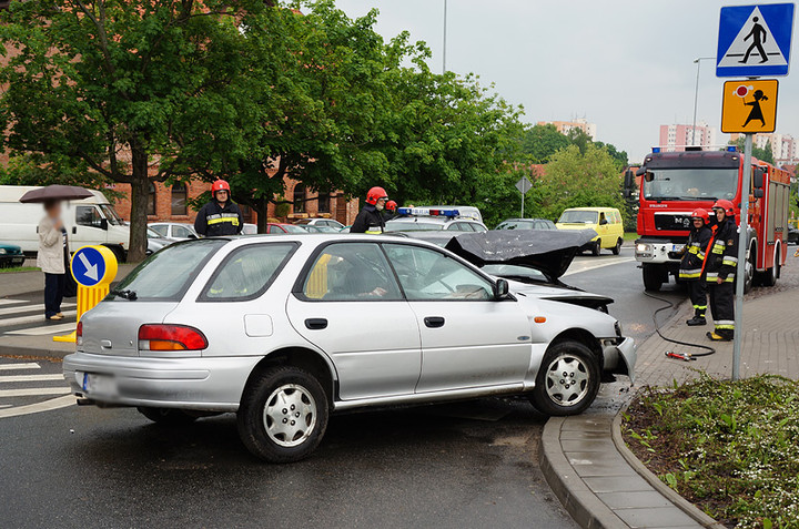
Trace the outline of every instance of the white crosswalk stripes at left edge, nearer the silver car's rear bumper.
{"type": "Polygon", "coordinates": [[[60,363],[0,358],[0,419],[73,404],[60,363]]]}

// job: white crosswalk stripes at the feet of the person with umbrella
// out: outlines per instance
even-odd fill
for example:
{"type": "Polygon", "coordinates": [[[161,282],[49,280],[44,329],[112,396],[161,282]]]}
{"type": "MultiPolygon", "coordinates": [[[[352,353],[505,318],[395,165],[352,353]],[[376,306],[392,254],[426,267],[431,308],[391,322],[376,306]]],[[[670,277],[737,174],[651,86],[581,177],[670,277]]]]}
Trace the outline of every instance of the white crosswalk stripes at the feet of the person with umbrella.
{"type": "Polygon", "coordinates": [[[44,304],[29,299],[0,299],[0,334],[11,336],[45,336],[65,334],[75,327],[75,304],[62,303],[64,319],[44,319],[44,304]]]}

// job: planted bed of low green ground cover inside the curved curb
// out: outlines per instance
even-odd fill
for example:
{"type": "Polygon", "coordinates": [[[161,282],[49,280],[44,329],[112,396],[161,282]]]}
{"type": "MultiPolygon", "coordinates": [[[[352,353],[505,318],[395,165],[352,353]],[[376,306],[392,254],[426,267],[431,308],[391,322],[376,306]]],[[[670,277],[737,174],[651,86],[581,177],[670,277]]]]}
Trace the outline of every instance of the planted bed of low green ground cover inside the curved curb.
{"type": "Polygon", "coordinates": [[[799,528],[799,383],[708,376],[645,389],[625,415],[630,449],[729,527],[799,528]]]}

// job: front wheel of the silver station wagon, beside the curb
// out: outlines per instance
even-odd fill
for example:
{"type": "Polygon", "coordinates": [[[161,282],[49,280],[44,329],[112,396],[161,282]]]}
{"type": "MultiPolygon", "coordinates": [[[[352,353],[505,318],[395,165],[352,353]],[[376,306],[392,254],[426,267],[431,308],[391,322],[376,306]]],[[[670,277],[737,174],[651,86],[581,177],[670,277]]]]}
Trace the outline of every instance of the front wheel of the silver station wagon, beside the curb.
{"type": "Polygon", "coordinates": [[[558,342],[544,355],[530,401],[544,415],[578,415],[596,398],[600,378],[599,362],[585,344],[558,342]]]}

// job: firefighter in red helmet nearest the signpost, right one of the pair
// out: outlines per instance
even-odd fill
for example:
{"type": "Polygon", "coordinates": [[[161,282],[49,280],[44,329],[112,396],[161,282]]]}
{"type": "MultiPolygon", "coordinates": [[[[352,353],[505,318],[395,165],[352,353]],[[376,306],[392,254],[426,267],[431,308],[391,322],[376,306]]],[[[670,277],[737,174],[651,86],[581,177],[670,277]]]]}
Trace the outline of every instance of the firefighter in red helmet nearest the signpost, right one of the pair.
{"type": "Polygon", "coordinates": [[[714,212],[717,221],[712,244],[707,251],[705,273],[716,328],[707,336],[714,342],[729,342],[735,334],[734,284],[738,266],[738,226],[730,201],[716,201],[714,212]]]}

